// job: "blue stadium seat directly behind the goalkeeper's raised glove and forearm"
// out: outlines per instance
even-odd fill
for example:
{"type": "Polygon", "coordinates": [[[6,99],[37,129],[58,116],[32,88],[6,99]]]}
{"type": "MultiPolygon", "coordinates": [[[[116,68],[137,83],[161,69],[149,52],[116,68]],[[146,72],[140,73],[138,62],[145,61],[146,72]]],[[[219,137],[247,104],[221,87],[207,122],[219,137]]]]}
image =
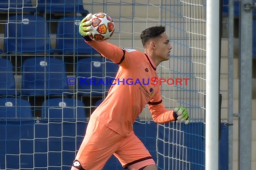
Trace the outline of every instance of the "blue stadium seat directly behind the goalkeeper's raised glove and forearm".
{"type": "Polygon", "coordinates": [[[62,17],[57,25],[56,51],[61,54],[99,54],[79,34],[83,17],[62,17]]]}

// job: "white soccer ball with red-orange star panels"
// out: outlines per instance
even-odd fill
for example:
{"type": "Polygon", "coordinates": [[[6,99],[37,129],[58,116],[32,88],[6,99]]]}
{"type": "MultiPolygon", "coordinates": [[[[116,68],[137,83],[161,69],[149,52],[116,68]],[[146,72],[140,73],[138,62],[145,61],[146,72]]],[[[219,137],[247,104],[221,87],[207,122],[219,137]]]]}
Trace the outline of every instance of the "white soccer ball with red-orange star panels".
{"type": "Polygon", "coordinates": [[[90,20],[93,26],[92,35],[90,35],[92,40],[103,41],[113,35],[115,24],[113,19],[106,13],[95,13],[90,20]]]}

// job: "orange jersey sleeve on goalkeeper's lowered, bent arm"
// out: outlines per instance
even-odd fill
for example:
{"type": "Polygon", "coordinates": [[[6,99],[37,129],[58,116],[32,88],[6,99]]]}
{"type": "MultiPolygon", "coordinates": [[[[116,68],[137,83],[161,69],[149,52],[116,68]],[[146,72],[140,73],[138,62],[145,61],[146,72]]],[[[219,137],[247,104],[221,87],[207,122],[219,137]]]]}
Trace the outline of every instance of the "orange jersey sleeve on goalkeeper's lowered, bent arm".
{"type": "Polygon", "coordinates": [[[173,110],[167,110],[163,105],[160,88],[154,97],[150,100],[150,102],[148,102],[148,107],[154,122],[168,123],[175,121],[173,110]]]}

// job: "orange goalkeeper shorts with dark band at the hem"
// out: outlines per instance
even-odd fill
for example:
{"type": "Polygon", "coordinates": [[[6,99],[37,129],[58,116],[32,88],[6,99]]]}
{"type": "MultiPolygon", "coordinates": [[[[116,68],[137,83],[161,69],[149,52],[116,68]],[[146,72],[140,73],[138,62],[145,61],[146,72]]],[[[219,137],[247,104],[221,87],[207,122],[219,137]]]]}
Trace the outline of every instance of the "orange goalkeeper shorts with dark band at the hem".
{"type": "Polygon", "coordinates": [[[130,170],[155,165],[149,151],[133,131],[126,137],[121,136],[91,118],[75,161],[79,161],[85,170],[102,170],[112,154],[130,170]]]}

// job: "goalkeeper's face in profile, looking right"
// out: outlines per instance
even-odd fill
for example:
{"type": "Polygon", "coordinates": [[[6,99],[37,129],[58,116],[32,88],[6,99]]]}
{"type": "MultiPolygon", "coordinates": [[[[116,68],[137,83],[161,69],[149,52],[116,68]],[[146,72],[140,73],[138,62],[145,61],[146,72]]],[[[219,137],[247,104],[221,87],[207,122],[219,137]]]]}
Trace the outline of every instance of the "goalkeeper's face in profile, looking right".
{"type": "Polygon", "coordinates": [[[154,42],[155,51],[154,54],[157,55],[160,62],[166,61],[169,59],[172,46],[170,44],[167,34],[162,33],[154,42]]]}

